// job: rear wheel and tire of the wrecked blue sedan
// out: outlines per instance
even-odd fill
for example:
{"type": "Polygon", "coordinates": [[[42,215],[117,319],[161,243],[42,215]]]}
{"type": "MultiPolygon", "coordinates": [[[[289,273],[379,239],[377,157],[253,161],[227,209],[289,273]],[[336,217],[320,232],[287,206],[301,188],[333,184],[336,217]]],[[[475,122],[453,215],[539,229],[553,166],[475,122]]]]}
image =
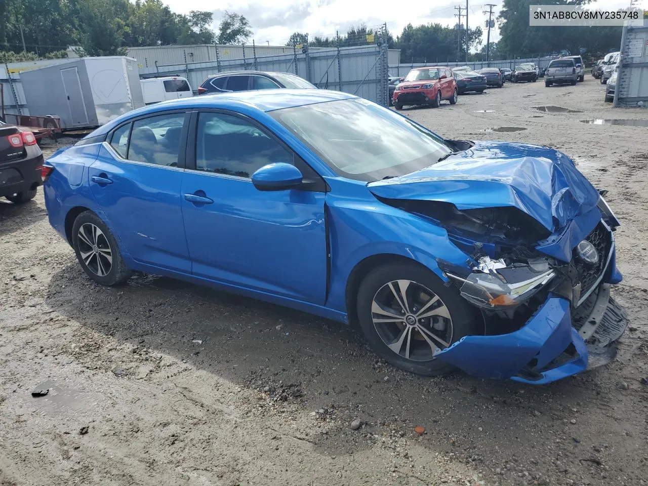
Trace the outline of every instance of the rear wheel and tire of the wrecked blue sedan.
{"type": "Polygon", "coordinates": [[[92,211],[84,211],[76,216],[72,227],[72,246],[84,272],[98,284],[121,284],[133,274],[119,253],[117,240],[92,211]]]}

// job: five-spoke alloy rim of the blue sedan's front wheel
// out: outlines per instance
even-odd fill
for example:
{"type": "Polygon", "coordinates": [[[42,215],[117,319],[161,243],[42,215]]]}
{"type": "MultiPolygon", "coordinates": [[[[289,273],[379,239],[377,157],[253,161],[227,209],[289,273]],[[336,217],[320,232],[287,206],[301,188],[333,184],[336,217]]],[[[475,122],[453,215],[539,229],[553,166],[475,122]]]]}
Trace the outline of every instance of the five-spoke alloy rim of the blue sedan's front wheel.
{"type": "Polygon", "coordinates": [[[413,361],[434,359],[452,343],[452,318],[439,295],[410,280],[384,284],[373,297],[371,319],[391,351],[413,361]]]}

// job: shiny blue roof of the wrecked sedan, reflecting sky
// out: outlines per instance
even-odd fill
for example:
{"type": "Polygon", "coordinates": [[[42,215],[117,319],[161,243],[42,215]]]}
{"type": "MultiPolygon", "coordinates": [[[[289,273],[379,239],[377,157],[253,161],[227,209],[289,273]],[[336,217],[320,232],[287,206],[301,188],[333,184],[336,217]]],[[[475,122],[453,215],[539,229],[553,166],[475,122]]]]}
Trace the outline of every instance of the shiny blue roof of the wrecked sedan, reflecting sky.
{"type": "MultiPolygon", "coordinates": [[[[256,72],[256,71],[255,71],[256,72]]],[[[257,89],[255,91],[231,91],[215,95],[200,95],[191,98],[163,101],[151,104],[138,110],[129,111],[121,117],[100,126],[87,135],[95,137],[110,132],[124,121],[145,116],[155,115],[168,110],[198,110],[200,108],[219,108],[222,110],[245,111],[274,111],[295,106],[325,103],[327,101],[348,100],[358,98],[341,91],[328,89],[257,89]]]]}

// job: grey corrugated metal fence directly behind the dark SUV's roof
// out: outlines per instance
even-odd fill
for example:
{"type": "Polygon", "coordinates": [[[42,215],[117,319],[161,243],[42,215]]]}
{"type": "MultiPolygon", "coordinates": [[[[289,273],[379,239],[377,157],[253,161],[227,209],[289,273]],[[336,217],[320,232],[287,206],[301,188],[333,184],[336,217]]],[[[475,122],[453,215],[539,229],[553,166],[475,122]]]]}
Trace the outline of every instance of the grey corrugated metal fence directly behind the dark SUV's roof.
{"type": "Polygon", "coordinates": [[[209,75],[224,71],[295,73],[322,89],[337,89],[387,105],[388,49],[386,44],[333,49],[294,49],[290,54],[209,62],[141,67],[141,77],[178,75],[198,89],[209,75]]]}

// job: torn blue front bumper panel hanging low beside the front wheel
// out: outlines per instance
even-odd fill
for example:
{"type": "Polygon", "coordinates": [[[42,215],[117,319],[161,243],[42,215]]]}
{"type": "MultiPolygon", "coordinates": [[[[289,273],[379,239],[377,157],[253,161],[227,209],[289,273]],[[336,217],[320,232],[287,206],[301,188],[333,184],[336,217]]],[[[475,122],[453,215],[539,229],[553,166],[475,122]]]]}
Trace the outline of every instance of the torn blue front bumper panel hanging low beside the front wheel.
{"type": "Polygon", "coordinates": [[[531,384],[552,382],[587,369],[587,348],[572,327],[570,303],[553,296],[515,332],[499,336],[465,336],[436,353],[435,357],[470,375],[511,378],[531,384]],[[540,369],[559,356],[570,343],[578,353],[574,360],[544,371],[540,380],[517,376],[533,358],[537,360],[535,367],[540,369]]]}

